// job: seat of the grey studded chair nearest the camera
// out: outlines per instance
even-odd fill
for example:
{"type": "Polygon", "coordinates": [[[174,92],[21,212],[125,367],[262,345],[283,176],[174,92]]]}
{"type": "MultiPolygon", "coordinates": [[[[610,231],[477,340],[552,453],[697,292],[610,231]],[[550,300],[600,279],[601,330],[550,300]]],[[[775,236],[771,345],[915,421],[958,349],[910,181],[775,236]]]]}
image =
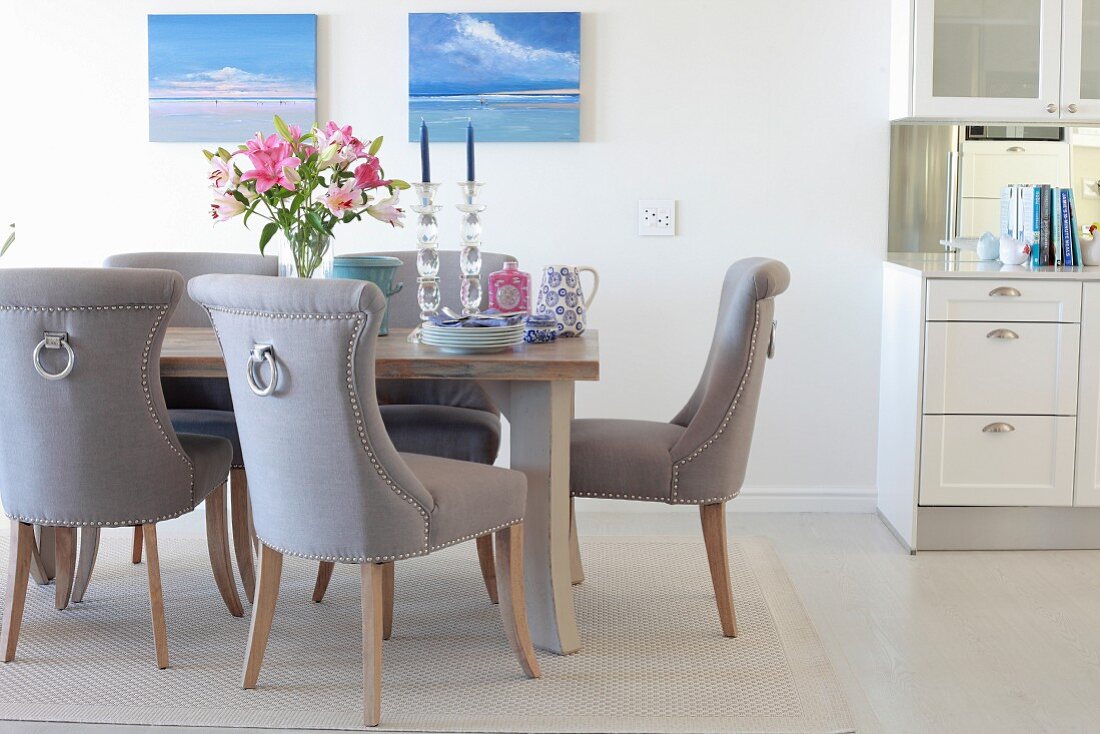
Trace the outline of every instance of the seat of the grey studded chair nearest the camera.
{"type": "Polygon", "coordinates": [[[436,501],[428,535],[432,548],[524,518],[527,476],[521,472],[419,453],[402,453],[402,459],[436,501]]]}

